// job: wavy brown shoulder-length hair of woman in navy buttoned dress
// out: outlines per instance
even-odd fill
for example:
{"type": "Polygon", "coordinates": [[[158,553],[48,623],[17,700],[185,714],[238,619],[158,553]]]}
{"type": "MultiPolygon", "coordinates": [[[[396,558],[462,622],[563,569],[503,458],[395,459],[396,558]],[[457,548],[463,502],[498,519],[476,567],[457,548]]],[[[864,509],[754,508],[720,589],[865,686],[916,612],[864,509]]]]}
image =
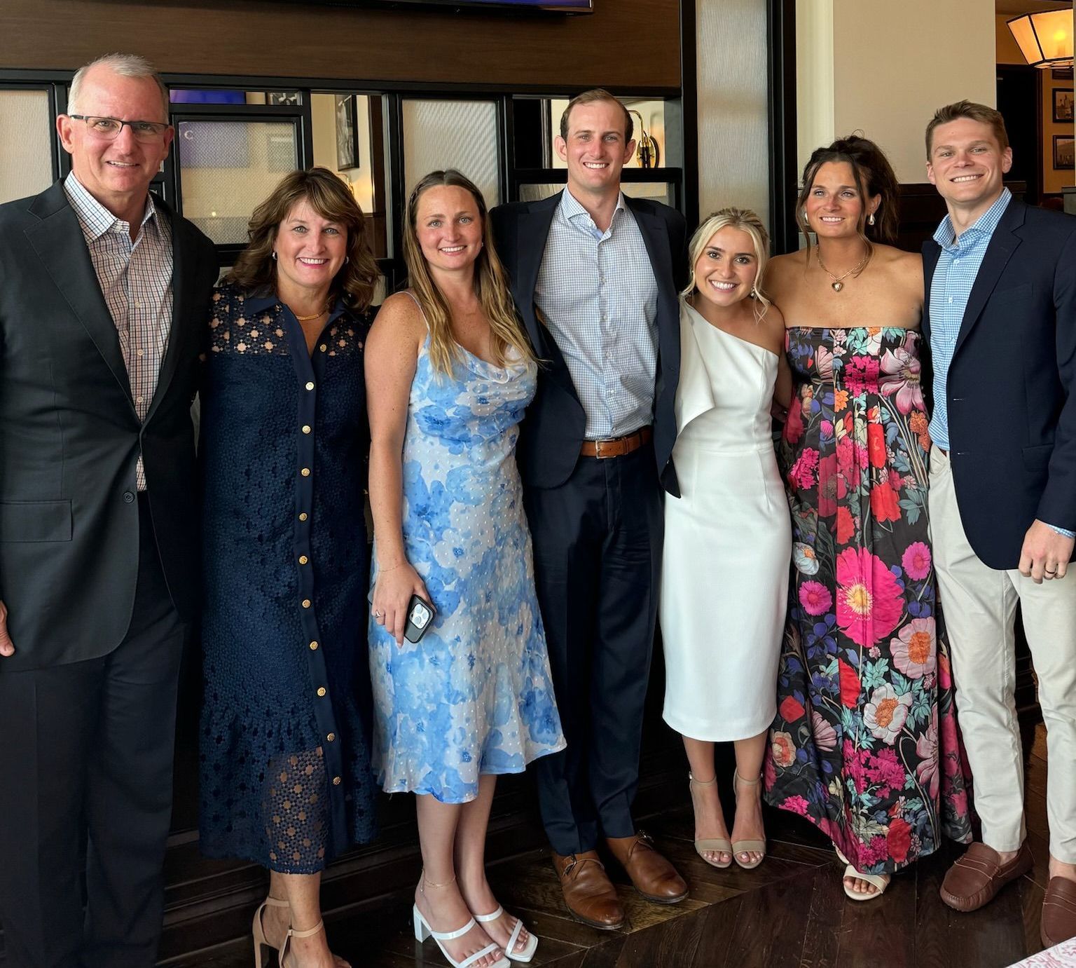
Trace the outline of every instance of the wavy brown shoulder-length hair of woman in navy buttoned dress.
{"type": "Polygon", "coordinates": [[[378,284],[378,264],[370,251],[366,216],[348,186],[327,168],[293,171],[281,179],[272,194],[251,215],[250,244],[239,254],[225,282],[247,292],[268,295],[277,291],[273,244],[280,224],[301,201],[323,219],[348,229],[348,259],[329,284],[329,295],[342,296],[352,309],[367,309],[378,284]]]}

